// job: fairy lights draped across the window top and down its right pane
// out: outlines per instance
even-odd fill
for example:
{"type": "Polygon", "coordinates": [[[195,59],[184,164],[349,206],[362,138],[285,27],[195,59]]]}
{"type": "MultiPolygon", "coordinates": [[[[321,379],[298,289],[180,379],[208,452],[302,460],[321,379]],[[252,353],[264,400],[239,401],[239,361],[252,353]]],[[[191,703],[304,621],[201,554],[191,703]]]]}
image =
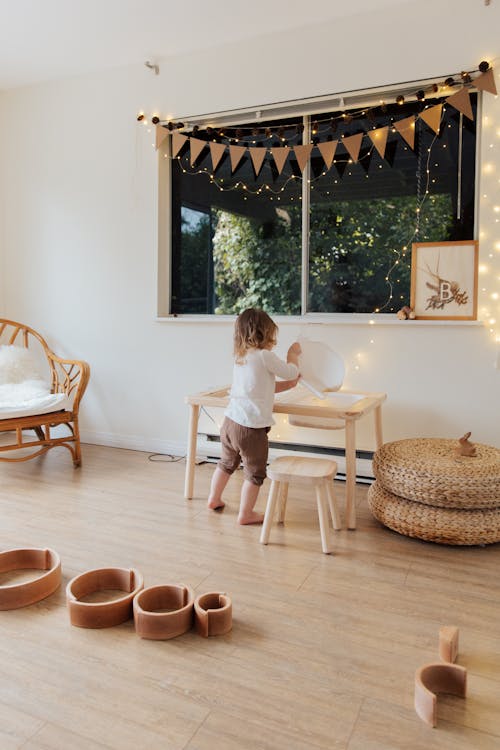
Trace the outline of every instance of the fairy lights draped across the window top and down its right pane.
{"type": "MultiPolygon", "coordinates": [[[[481,62],[478,66],[477,70],[471,71],[472,73],[486,73],[490,69],[489,63],[487,62],[481,62]]],[[[440,89],[448,90],[450,88],[453,88],[454,86],[460,86],[461,88],[466,88],[471,85],[474,85],[473,78],[471,76],[471,72],[463,71],[460,74],[454,74],[453,76],[448,76],[443,84],[438,85],[436,83],[431,84],[431,86],[427,89],[419,89],[415,92],[414,98],[417,100],[417,102],[420,102],[422,104],[422,110],[427,108],[426,100],[428,102],[429,95],[431,96],[432,100],[444,100],[446,98],[446,94],[441,93],[439,94],[440,89]],[[458,80],[457,80],[458,79],[458,80]]],[[[343,100],[341,99],[341,103],[343,104],[343,100]]],[[[402,94],[399,94],[395,98],[396,105],[404,105],[405,104],[405,97],[402,94]]],[[[388,104],[387,102],[381,100],[379,105],[375,107],[359,107],[358,109],[353,109],[345,112],[340,112],[338,114],[333,115],[325,115],[325,116],[314,116],[311,118],[311,125],[310,125],[310,142],[312,146],[316,146],[320,142],[324,142],[321,140],[321,135],[324,135],[325,132],[325,125],[328,129],[327,134],[327,140],[331,141],[333,140],[334,134],[337,132],[339,125],[342,124],[344,127],[349,127],[351,123],[356,124],[356,120],[360,119],[367,119],[370,123],[373,123],[372,127],[373,129],[377,129],[376,119],[377,119],[377,110],[381,113],[383,113],[389,122],[389,127],[391,129],[392,133],[396,132],[396,129],[394,127],[395,122],[397,122],[396,117],[394,115],[390,115],[388,113],[388,104]]],[[[443,123],[443,119],[445,116],[446,107],[443,103],[442,109],[441,109],[441,117],[439,122],[439,127],[435,129],[435,134],[432,139],[432,142],[430,146],[427,148],[427,157],[426,157],[426,164],[425,164],[425,178],[424,178],[424,190],[421,190],[420,185],[420,177],[417,179],[417,200],[416,200],[416,206],[415,206],[415,223],[414,226],[411,229],[411,232],[409,234],[409,237],[406,242],[404,242],[401,247],[394,248],[393,254],[394,258],[390,262],[389,268],[386,271],[385,274],[385,282],[387,284],[387,296],[386,299],[383,301],[382,304],[380,304],[378,307],[376,307],[372,312],[374,313],[380,313],[384,310],[386,310],[389,306],[392,306],[394,304],[394,285],[395,283],[399,283],[400,279],[393,277],[396,274],[396,271],[399,270],[402,266],[402,262],[407,262],[406,258],[408,256],[408,250],[411,250],[411,245],[414,241],[417,241],[419,239],[419,233],[420,233],[420,221],[422,217],[422,211],[424,209],[426,201],[429,199],[430,195],[430,184],[431,184],[431,159],[432,159],[432,151],[433,147],[435,146],[435,143],[439,137],[441,126],[443,123]]],[[[378,115],[378,118],[380,118],[380,114],[378,115]]],[[[147,124],[147,118],[145,117],[144,113],[140,113],[137,116],[137,120],[139,122],[142,122],[144,124],[147,124]]],[[[415,124],[419,120],[418,115],[415,116],[415,124]]],[[[183,130],[187,129],[187,125],[185,125],[182,122],[174,122],[172,120],[161,120],[158,116],[153,116],[151,119],[151,123],[156,126],[163,126],[167,129],[167,131],[173,133],[173,132],[182,132],[183,130]]],[[[448,125],[448,127],[451,127],[451,125],[448,125]]],[[[268,144],[272,147],[273,142],[275,139],[277,139],[277,142],[279,146],[292,146],[294,141],[301,142],[303,139],[303,133],[304,133],[304,123],[303,122],[289,122],[287,121],[284,124],[279,124],[277,126],[263,126],[260,127],[259,125],[238,125],[234,128],[227,128],[227,127],[215,127],[215,126],[207,126],[204,127],[204,133],[208,137],[210,141],[216,142],[216,143],[225,143],[225,145],[244,145],[246,147],[250,146],[260,146],[262,148],[268,148],[268,144]],[[267,143],[266,143],[267,142],[267,143]]],[[[200,128],[198,125],[194,125],[191,129],[191,135],[193,137],[198,137],[200,128]]],[[[340,138],[340,143],[342,143],[342,139],[346,137],[348,134],[343,133],[340,138]]],[[[206,141],[207,145],[209,141],[206,141]]],[[[408,150],[408,147],[404,146],[405,150],[408,150]]],[[[443,144],[443,148],[446,148],[446,144],[443,144]]],[[[322,192],[321,187],[324,186],[324,178],[327,176],[330,169],[335,165],[337,167],[338,177],[336,177],[332,182],[332,190],[335,191],[335,185],[338,184],[339,179],[341,180],[344,173],[347,171],[348,176],[351,174],[351,171],[348,169],[348,166],[353,163],[361,163],[363,160],[369,160],[371,159],[371,156],[374,152],[375,144],[372,143],[369,148],[367,148],[362,154],[360,153],[358,155],[358,158],[356,160],[353,160],[352,158],[344,158],[344,159],[332,159],[332,162],[330,166],[326,166],[321,173],[317,174],[316,176],[310,176],[309,172],[306,172],[301,174],[290,174],[288,176],[281,175],[281,171],[279,172],[280,176],[284,177],[284,180],[281,182],[279,186],[274,186],[273,184],[269,184],[269,182],[265,182],[260,185],[255,184],[249,184],[246,183],[243,180],[237,180],[234,181],[233,179],[229,178],[229,180],[225,179],[222,176],[218,176],[216,174],[216,170],[210,171],[207,167],[201,167],[197,168],[194,165],[191,165],[191,168],[188,169],[186,166],[184,166],[183,163],[183,157],[181,155],[181,152],[179,152],[174,158],[177,160],[179,167],[182,171],[182,173],[186,176],[198,176],[198,175],[206,175],[210,183],[214,185],[216,188],[218,188],[221,192],[231,192],[231,191],[237,191],[241,190],[245,193],[243,196],[243,200],[247,200],[247,196],[260,196],[261,194],[266,195],[266,197],[270,201],[281,201],[282,194],[287,191],[287,188],[289,187],[290,183],[293,183],[297,180],[302,181],[303,179],[307,181],[307,184],[310,187],[310,190],[317,189],[319,194],[323,198],[329,198],[330,200],[333,200],[334,198],[334,192],[331,193],[330,190],[325,190],[322,192]],[[338,165],[343,165],[339,168],[338,165]],[[319,184],[318,184],[319,183],[319,184]]],[[[417,154],[417,157],[420,161],[421,153],[417,154]]],[[[164,154],[165,158],[168,158],[168,154],[164,154]]],[[[268,165],[269,166],[269,165],[268,165]]],[[[379,164],[379,169],[382,169],[382,164],[379,164]]],[[[437,166],[437,165],[436,165],[437,166]]],[[[421,169],[417,169],[417,174],[420,175],[421,169]]],[[[366,171],[365,178],[369,179],[368,170],[366,171]]],[[[432,182],[434,183],[436,179],[432,179],[432,182]]],[[[298,194],[296,196],[296,199],[298,201],[302,200],[302,195],[298,194]]],[[[290,200],[291,202],[294,201],[294,195],[287,195],[287,201],[290,200]]],[[[411,255],[411,253],[410,253],[411,255]]],[[[401,300],[404,299],[403,295],[401,295],[401,300]]]]}

